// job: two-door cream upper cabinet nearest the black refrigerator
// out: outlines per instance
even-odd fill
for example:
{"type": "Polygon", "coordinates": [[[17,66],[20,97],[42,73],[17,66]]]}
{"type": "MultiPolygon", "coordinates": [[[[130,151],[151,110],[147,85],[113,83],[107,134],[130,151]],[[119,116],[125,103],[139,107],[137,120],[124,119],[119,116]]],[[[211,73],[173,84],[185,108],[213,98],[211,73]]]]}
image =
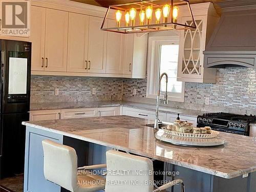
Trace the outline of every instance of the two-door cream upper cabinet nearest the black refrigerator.
{"type": "Polygon", "coordinates": [[[67,71],[68,12],[31,6],[32,71],[67,71]]]}

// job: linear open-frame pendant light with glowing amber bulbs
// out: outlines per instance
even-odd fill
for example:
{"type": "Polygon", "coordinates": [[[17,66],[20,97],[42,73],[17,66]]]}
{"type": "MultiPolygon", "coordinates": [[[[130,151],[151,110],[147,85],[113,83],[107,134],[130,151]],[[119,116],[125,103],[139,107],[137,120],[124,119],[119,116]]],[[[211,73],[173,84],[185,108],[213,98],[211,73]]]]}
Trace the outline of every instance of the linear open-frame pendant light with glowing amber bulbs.
{"type": "Polygon", "coordinates": [[[145,33],[154,31],[196,28],[189,0],[141,0],[134,3],[111,5],[106,11],[101,30],[117,33],[145,33]],[[185,5],[191,16],[191,25],[179,21],[179,6],[185,5]],[[109,15],[114,13],[114,15],[109,15]],[[111,26],[108,19],[115,19],[111,26]]]}

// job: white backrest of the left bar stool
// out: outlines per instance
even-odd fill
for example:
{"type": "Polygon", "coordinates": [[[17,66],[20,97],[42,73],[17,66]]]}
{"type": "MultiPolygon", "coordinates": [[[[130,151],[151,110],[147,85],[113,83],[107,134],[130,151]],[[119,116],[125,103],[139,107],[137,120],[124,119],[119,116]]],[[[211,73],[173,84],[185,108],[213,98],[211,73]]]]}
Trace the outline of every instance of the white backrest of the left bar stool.
{"type": "Polygon", "coordinates": [[[48,181],[70,191],[77,189],[77,156],[74,148],[43,140],[44,174],[48,181]]]}

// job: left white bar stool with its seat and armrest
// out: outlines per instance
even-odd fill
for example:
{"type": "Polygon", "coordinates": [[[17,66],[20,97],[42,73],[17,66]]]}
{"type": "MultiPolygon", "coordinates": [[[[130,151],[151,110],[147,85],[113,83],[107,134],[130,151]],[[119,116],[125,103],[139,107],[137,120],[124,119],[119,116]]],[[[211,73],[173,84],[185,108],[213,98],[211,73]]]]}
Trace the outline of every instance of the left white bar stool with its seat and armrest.
{"type": "Polygon", "coordinates": [[[92,192],[105,188],[105,179],[99,175],[77,172],[106,167],[106,164],[77,168],[77,156],[74,148],[51,140],[43,140],[44,174],[51,181],[72,192],[92,192]]]}

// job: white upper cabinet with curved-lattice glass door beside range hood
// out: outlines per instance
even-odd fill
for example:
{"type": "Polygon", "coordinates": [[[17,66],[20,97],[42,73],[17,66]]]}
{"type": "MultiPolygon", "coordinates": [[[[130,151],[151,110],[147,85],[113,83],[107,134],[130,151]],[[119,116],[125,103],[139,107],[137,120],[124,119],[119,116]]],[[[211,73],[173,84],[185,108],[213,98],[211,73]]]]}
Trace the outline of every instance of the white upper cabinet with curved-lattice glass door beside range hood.
{"type": "MultiPolygon", "coordinates": [[[[192,11],[197,28],[181,30],[177,80],[215,83],[216,69],[203,68],[203,51],[219,16],[211,3],[195,5],[192,11]]],[[[190,16],[181,17],[180,22],[193,25],[190,16]]]]}

